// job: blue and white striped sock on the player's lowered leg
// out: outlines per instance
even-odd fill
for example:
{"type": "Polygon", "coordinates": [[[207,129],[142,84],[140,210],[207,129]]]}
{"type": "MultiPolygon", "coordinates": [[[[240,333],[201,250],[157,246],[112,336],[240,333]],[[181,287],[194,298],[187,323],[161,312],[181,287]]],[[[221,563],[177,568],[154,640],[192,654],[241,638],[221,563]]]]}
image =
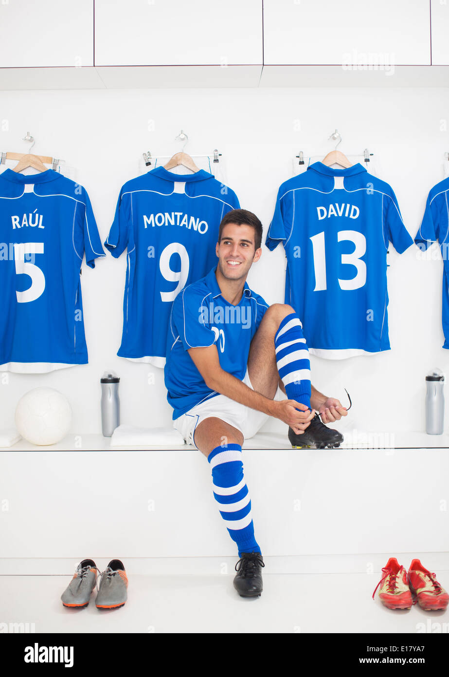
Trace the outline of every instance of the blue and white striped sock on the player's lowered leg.
{"type": "Polygon", "coordinates": [[[212,467],[214,496],[220,505],[220,515],[229,536],[237,543],[239,557],[242,552],[260,552],[254,538],[250,494],[243,479],[241,446],[227,444],[215,447],[208,461],[212,467]]]}

